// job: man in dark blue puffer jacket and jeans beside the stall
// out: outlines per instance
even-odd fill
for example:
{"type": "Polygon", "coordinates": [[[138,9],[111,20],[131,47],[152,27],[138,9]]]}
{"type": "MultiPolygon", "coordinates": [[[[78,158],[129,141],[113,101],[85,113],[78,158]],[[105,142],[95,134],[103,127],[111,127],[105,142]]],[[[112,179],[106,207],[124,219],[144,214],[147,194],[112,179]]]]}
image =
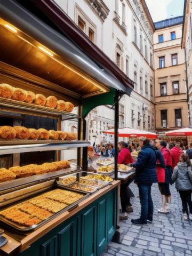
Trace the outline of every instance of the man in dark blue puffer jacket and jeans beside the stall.
{"type": "Polygon", "coordinates": [[[147,221],[153,221],[154,206],[151,198],[151,186],[153,183],[157,183],[157,159],[159,159],[162,167],[165,166],[163,155],[160,152],[157,154],[149,142],[145,137],[139,138],[141,151],[138,154],[137,162],[133,163],[133,167],[135,167],[135,182],[139,188],[141,217],[132,219],[131,222],[139,226],[147,226],[147,221]]]}

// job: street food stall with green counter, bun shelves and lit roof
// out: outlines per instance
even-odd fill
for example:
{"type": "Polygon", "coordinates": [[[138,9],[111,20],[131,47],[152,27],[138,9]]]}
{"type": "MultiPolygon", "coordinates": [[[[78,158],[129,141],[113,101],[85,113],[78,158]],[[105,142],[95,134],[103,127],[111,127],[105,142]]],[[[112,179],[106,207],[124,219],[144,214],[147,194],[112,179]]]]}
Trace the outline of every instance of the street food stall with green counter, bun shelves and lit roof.
{"type": "Polygon", "coordinates": [[[114,179],[86,172],[83,118],[115,104],[117,134],[127,88],[18,2],[0,3],[0,255],[99,255],[117,224],[117,153],[114,179]]]}

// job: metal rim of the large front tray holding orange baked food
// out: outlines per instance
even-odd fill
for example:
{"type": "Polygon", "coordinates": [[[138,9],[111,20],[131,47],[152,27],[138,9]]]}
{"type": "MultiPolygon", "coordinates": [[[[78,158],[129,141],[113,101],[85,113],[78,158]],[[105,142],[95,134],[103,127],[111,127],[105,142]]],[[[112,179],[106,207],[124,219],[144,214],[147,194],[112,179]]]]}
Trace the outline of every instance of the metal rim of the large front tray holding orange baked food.
{"type": "MultiPolygon", "coordinates": [[[[58,188],[60,187],[61,189],[64,189],[63,186],[59,186],[59,185],[56,185],[54,188],[52,189],[55,189],[55,188],[58,188]]],[[[33,231],[33,230],[36,230],[37,228],[43,226],[45,223],[49,222],[50,220],[54,219],[55,217],[57,217],[59,214],[65,212],[65,211],[72,211],[73,209],[75,209],[76,207],[78,207],[78,204],[80,202],[82,202],[87,196],[90,196],[90,193],[86,193],[85,191],[77,191],[73,188],[69,188],[69,187],[65,187],[65,190],[69,190],[69,191],[73,191],[73,192],[76,192],[76,193],[79,193],[79,194],[83,194],[85,195],[83,198],[79,199],[78,201],[74,202],[73,204],[70,204],[69,206],[63,208],[62,210],[60,210],[59,212],[57,213],[53,213],[53,215],[51,215],[49,218],[47,218],[46,220],[43,220],[42,222],[36,224],[36,225],[33,225],[31,227],[25,227],[25,226],[20,226],[18,225],[17,223],[14,223],[10,220],[7,220],[6,218],[4,218],[3,216],[0,215],[0,221],[4,222],[6,225],[10,226],[11,228],[14,228],[14,229],[17,229],[18,231],[20,232],[28,232],[28,231],[33,231]]],[[[49,190],[47,190],[49,191],[49,190]]],[[[47,191],[44,191],[43,193],[46,193],[47,191]]],[[[37,194],[36,196],[39,196],[43,193],[40,193],[40,194],[37,194]]],[[[34,197],[34,196],[33,196],[34,197]]],[[[29,199],[29,198],[28,198],[29,199]]],[[[20,202],[18,202],[17,204],[19,203],[22,203],[22,202],[25,202],[27,201],[28,199],[25,199],[25,200],[22,200],[20,202]]],[[[14,207],[15,205],[17,204],[14,204],[12,206],[9,206],[9,207],[6,207],[5,209],[9,209],[11,207],[14,207]]],[[[2,209],[2,210],[5,210],[5,209],[2,209]]]]}

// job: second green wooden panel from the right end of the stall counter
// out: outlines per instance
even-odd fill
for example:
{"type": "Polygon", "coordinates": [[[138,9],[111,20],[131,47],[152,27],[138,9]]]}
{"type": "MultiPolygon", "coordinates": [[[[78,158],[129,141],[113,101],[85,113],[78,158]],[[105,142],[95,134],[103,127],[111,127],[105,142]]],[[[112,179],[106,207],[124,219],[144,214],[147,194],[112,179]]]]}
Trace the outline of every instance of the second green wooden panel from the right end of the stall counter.
{"type": "Polygon", "coordinates": [[[98,202],[98,241],[97,252],[98,255],[103,251],[107,245],[107,199],[103,198],[98,202]]]}

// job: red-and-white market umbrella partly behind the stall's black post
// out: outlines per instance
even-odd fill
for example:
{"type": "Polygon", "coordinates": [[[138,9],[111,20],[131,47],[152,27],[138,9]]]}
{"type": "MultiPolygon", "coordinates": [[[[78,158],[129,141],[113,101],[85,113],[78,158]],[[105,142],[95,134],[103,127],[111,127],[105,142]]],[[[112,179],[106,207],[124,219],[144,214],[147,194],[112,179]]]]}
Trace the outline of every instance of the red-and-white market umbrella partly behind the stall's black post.
{"type": "MultiPolygon", "coordinates": [[[[103,133],[114,134],[114,129],[103,131],[103,133]]],[[[131,129],[128,127],[118,129],[118,137],[134,138],[134,137],[141,137],[141,136],[145,136],[148,139],[156,139],[158,137],[158,135],[153,132],[147,132],[147,131],[142,131],[138,129],[131,129]]]]}

